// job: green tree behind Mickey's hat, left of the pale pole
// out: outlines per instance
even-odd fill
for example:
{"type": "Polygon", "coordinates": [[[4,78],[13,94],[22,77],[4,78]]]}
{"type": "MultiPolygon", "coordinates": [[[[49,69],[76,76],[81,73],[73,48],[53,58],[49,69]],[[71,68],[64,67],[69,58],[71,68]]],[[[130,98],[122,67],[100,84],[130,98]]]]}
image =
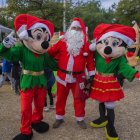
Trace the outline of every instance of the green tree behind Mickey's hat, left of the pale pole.
{"type": "Polygon", "coordinates": [[[28,13],[52,21],[56,30],[62,28],[63,4],[56,0],[8,0],[7,5],[5,15],[12,23],[18,14],[28,13]]]}

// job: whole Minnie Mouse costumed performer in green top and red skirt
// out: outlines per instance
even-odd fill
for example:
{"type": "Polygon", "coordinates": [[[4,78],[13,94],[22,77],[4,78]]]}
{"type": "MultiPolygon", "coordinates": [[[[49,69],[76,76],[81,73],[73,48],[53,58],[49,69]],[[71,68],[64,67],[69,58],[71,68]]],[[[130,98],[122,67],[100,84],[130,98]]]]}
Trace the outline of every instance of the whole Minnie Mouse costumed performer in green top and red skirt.
{"type": "Polygon", "coordinates": [[[119,140],[114,126],[115,102],[124,98],[124,93],[114,73],[122,74],[132,81],[140,78],[140,74],[127,64],[125,49],[130,47],[136,38],[132,27],[119,24],[100,24],[94,30],[95,42],[90,49],[96,47],[96,74],[93,80],[90,97],[99,101],[100,117],[90,122],[95,128],[104,127],[107,140],[119,140]]]}

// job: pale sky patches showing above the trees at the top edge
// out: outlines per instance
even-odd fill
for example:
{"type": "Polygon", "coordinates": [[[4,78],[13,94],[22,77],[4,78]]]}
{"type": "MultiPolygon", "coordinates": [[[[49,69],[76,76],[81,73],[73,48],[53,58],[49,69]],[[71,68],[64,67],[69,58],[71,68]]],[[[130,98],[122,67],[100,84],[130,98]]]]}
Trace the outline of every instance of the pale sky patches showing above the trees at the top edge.
{"type": "MultiPolygon", "coordinates": [[[[78,0],[73,0],[78,1],[78,0]]],[[[80,0],[79,0],[80,1],[80,0]]],[[[87,2],[88,0],[81,0],[87,2]]],[[[103,8],[108,9],[113,3],[118,4],[120,0],[100,0],[103,8]]],[[[0,7],[5,6],[6,0],[0,0],[0,7]]]]}

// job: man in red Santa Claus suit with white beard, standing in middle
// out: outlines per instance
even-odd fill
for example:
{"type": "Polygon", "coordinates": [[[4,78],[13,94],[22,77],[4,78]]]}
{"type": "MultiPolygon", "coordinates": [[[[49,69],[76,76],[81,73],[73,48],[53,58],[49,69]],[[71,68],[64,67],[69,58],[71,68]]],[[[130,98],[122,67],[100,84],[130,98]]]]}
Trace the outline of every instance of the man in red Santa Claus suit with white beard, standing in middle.
{"type": "Polygon", "coordinates": [[[71,90],[77,123],[81,128],[85,129],[87,127],[84,122],[85,100],[77,98],[77,79],[78,77],[85,77],[85,68],[87,68],[91,79],[95,71],[93,54],[89,50],[83,21],[80,18],[74,18],[63,37],[50,47],[47,53],[54,58],[58,56],[59,67],[56,77],[56,121],[53,124],[53,128],[58,128],[64,122],[66,100],[71,90]]]}

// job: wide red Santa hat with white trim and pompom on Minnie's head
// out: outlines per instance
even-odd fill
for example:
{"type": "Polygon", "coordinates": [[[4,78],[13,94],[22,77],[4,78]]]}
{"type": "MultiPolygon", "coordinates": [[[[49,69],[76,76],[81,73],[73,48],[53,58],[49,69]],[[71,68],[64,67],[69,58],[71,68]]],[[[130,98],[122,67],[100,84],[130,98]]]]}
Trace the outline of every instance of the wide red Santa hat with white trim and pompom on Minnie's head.
{"type": "MultiPolygon", "coordinates": [[[[95,43],[110,36],[122,39],[128,47],[130,47],[136,40],[135,30],[132,27],[120,24],[102,23],[98,25],[93,32],[95,43]]],[[[95,47],[95,45],[90,46],[91,50],[93,50],[92,47],[95,47]]]]}

